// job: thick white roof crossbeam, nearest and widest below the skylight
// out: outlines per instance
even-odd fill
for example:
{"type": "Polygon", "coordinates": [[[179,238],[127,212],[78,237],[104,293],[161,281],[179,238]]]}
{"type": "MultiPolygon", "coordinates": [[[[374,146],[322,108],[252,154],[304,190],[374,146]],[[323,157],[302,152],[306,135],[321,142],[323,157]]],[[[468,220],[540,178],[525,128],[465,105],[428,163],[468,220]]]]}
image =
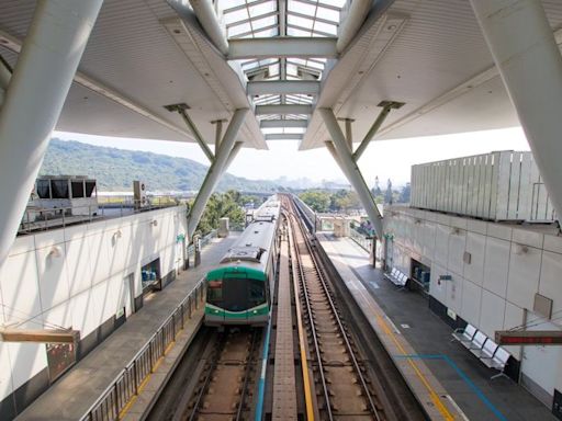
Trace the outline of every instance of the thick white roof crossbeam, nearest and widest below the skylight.
{"type": "Polygon", "coordinates": [[[326,57],[336,58],[337,38],[279,36],[274,38],[231,39],[229,60],[270,57],[326,57]]]}

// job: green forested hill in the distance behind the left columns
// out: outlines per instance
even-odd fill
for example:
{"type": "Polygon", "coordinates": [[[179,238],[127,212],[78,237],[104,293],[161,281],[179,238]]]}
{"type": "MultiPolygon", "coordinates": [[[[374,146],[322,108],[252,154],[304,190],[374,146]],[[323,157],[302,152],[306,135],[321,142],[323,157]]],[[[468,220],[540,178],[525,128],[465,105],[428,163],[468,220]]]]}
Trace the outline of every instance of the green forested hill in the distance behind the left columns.
{"type": "MultiPolygon", "coordinates": [[[[133,180],[143,180],[150,191],[199,190],[209,167],[186,158],[172,158],[136,150],[123,150],[52,139],[40,171],[45,174],[88,175],[101,191],[132,191],[133,180]]],[[[276,191],[271,181],[248,180],[225,174],[220,191],[276,191]]]]}

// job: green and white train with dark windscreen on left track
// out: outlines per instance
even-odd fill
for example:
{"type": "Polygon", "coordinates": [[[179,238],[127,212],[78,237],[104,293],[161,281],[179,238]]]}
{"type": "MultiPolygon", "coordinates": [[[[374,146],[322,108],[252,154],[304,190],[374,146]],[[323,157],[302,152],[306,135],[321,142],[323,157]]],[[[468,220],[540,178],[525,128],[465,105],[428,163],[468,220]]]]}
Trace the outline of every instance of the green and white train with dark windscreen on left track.
{"type": "Polygon", "coordinates": [[[277,271],[281,204],[270,197],[235,244],[206,274],[205,326],[266,326],[277,271]]]}

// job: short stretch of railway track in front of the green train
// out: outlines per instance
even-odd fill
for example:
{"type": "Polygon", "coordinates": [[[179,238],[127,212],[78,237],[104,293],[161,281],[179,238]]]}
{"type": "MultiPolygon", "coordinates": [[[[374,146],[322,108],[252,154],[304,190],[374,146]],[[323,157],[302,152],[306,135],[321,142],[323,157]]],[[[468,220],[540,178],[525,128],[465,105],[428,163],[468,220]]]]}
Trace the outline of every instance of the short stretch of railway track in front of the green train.
{"type": "Polygon", "coordinates": [[[261,329],[217,333],[211,357],[181,417],[173,420],[249,420],[261,329]]]}

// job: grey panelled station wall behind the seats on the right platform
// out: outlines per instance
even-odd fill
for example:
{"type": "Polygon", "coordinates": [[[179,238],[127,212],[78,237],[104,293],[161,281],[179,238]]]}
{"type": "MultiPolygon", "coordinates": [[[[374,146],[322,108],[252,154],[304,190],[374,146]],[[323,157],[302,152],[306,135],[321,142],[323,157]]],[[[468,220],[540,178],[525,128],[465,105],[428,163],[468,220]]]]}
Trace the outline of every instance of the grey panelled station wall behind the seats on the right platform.
{"type": "MultiPolygon", "coordinates": [[[[392,238],[387,263],[408,275],[412,259],[429,266],[430,297],[488,337],[524,323],[535,330],[562,329],[562,237],[553,228],[390,206],[384,232],[392,238]],[[451,281],[439,282],[440,275],[451,281]],[[553,300],[551,320],[532,312],[536,293],[553,300]]],[[[522,382],[548,394],[546,403],[554,389],[562,390],[561,346],[506,350],[521,362],[522,382]]]]}

